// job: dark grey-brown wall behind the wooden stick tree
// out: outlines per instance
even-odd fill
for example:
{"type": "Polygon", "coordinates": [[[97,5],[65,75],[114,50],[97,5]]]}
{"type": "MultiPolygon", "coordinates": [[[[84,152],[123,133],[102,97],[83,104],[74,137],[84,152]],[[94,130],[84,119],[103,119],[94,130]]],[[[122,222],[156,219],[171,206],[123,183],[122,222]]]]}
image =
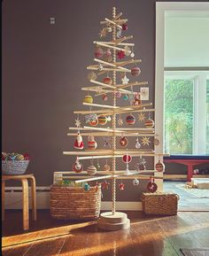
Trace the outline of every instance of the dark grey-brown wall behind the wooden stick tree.
{"type": "Polygon", "coordinates": [[[73,111],[84,109],[81,87],[89,85],[86,66],[93,64],[92,42],[112,6],[128,18],[127,34],[134,35],[135,57],[143,59],[141,80],[149,81],[153,101],[155,2],[3,2],[2,149],[31,155],[27,173],[35,174],[38,186],[50,185],[54,171],[69,170],[74,162],[62,154],[73,150],[74,140],[66,133],[74,126],[73,111]],[[56,18],[55,25],[50,17],[56,18]]]}

